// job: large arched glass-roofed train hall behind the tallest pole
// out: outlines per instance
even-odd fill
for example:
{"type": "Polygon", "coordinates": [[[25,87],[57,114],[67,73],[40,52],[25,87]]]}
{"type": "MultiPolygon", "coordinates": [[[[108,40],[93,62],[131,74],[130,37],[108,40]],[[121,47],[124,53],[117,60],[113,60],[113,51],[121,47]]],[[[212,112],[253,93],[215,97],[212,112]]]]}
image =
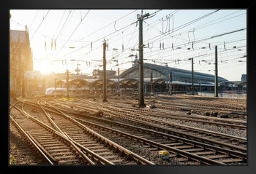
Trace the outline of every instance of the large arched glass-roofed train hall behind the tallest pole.
{"type": "MultiPolygon", "coordinates": [[[[121,87],[138,89],[138,64],[128,68],[120,74],[121,87]]],[[[143,63],[144,92],[189,92],[192,90],[192,72],[180,68],[159,66],[151,63],[143,63]],[[151,82],[152,74],[152,82],[151,82]],[[170,78],[171,74],[171,78],[170,78]],[[171,83],[171,85],[169,84],[171,83]]],[[[214,91],[215,76],[194,71],[194,89],[198,91],[214,91]]],[[[219,82],[227,82],[218,76],[219,82]]]]}

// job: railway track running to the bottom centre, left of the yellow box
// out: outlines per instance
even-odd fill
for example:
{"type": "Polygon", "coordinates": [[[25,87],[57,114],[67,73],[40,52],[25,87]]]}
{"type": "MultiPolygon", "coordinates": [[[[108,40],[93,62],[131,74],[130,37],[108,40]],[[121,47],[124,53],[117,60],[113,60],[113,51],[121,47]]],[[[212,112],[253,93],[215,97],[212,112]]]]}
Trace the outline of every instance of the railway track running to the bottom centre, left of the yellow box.
{"type": "Polygon", "coordinates": [[[129,151],[116,143],[108,140],[108,138],[95,133],[88,127],[83,126],[79,122],[69,116],[62,114],[49,114],[37,101],[45,115],[50,116],[52,123],[60,133],[67,137],[78,146],[92,161],[96,160],[99,164],[104,165],[154,165],[143,157],[129,151]]]}

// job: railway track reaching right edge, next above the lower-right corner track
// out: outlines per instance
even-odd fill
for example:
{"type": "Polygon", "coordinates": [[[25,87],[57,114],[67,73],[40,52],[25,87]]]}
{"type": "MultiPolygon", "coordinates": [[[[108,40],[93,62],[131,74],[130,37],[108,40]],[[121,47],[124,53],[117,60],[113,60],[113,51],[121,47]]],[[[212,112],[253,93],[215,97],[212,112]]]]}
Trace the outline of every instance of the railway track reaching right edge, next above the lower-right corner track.
{"type": "MultiPolygon", "coordinates": [[[[64,103],[61,103],[64,106],[64,103]]],[[[238,138],[232,135],[225,135],[222,133],[216,133],[208,130],[201,130],[195,127],[188,127],[182,124],[176,124],[172,122],[162,122],[159,119],[151,119],[148,116],[135,116],[132,114],[124,114],[124,111],[118,108],[105,108],[105,104],[95,103],[88,101],[78,106],[78,103],[72,103],[73,107],[90,111],[104,111],[106,115],[113,116],[117,120],[123,122],[129,122],[129,124],[139,125],[141,127],[147,127],[153,130],[159,130],[171,135],[178,135],[184,138],[190,138],[192,140],[206,142],[216,146],[222,146],[224,148],[234,149],[237,151],[246,152],[246,139],[238,138]],[[91,102],[91,105],[89,104],[91,102]],[[111,110],[110,110],[111,109],[111,110]]]]}

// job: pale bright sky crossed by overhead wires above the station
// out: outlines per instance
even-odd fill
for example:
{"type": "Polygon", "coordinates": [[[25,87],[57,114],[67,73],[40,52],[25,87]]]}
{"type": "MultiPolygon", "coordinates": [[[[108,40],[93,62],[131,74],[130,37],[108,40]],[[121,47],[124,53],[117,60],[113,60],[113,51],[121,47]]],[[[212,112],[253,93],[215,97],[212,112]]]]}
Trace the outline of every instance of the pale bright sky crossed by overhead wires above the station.
{"type": "Polygon", "coordinates": [[[103,41],[107,70],[124,70],[138,55],[137,15],[143,20],[144,63],[213,74],[240,81],[246,74],[245,9],[15,9],[10,29],[29,29],[34,70],[42,74],[92,75],[102,70],[103,41]],[[56,43],[56,44],[55,44],[56,43]],[[51,46],[53,45],[53,46],[51,46]]]}

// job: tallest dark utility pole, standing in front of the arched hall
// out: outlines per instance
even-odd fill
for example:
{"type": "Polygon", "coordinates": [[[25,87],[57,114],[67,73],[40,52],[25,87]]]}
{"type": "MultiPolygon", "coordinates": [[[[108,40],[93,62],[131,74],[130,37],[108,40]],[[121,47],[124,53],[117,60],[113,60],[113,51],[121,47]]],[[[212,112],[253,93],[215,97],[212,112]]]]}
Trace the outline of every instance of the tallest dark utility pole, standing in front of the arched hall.
{"type": "Polygon", "coordinates": [[[144,103],[144,78],[143,78],[143,18],[148,17],[149,13],[143,15],[143,10],[141,10],[141,15],[138,15],[139,22],[139,108],[145,108],[146,104],[144,103]]]}

